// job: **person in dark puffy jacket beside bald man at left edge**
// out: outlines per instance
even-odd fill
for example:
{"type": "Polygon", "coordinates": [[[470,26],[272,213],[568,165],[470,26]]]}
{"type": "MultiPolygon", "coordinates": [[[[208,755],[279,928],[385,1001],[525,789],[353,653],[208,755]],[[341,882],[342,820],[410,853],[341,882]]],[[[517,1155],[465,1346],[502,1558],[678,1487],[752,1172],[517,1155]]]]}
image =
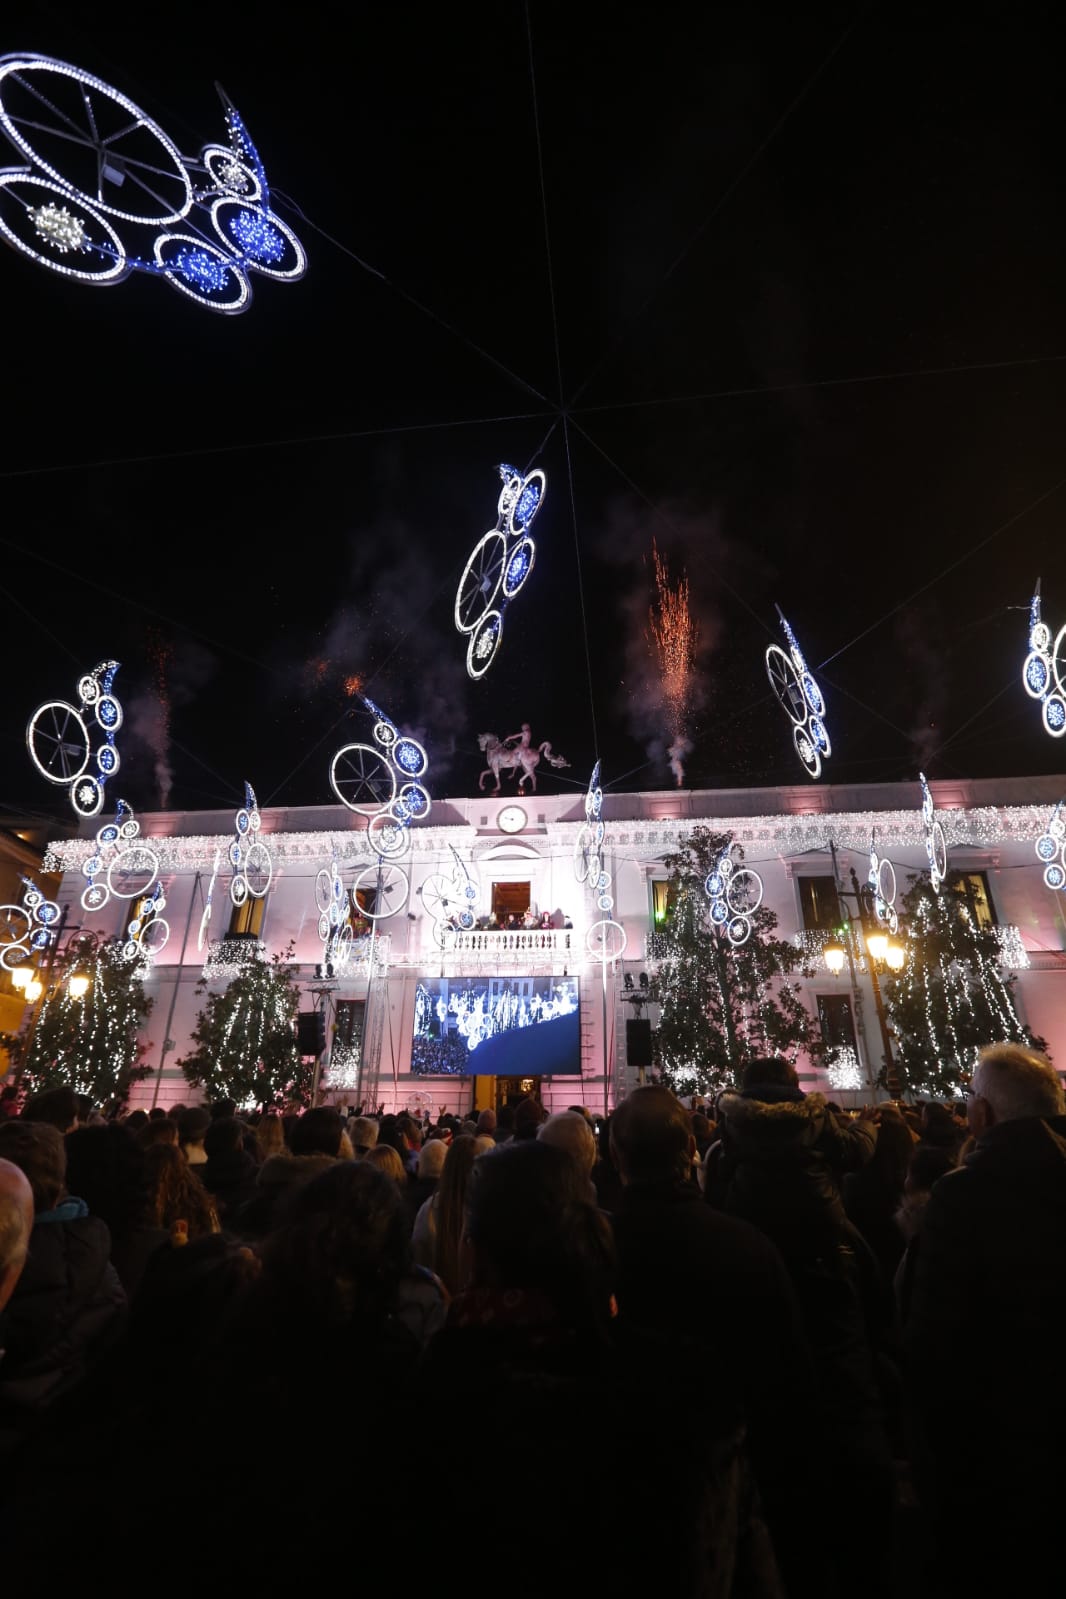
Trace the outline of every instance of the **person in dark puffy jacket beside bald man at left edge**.
{"type": "Polygon", "coordinates": [[[5,1121],[0,1159],[22,1170],[34,1194],[29,1250],[3,1314],[0,1460],[6,1460],[121,1337],[128,1303],[109,1258],[107,1226],[67,1193],[59,1129],[5,1121]]]}

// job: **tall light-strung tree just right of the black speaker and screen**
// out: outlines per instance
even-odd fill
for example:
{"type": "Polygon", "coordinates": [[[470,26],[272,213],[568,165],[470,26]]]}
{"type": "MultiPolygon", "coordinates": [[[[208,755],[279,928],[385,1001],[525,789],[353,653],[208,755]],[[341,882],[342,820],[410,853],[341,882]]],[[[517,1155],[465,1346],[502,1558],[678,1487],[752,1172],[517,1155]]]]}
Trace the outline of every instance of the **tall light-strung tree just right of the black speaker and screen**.
{"type": "MultiPolygon", "coordinates": [[[[807,956],[775,935],[766,905],[751,911],[751,935],[732,945],[714,931],[705,892],[708,873],[732,835],[694,828],[666,855],[666,915],[654,934],[657,959],[655,1065],[676,1094],[714,1094],[737,1084],[748,1060],[802,1051],[820,1057],[821,1035],[793,974],[809,975],[807,956]]],[[[734,846],[740,863],[743,849],[734,846]]]]}

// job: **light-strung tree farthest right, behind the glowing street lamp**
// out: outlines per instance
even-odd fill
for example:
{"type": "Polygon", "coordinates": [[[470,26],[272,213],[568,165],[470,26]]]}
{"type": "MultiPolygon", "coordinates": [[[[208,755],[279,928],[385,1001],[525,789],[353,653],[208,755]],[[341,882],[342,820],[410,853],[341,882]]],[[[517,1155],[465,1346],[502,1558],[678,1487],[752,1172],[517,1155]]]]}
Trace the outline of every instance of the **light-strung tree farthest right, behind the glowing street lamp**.
{"type": "Polygon", "coordinates": [[[897,1071],[921,1097],[948,1097],[970,1079],[983,1044],[1047,1051],[1018,1017],[1016,977],[1004,972],[994,927],[983,927],[965,876],[949,871],[937,894],[922,875],[901,902],[906,964],[887,983],[897,1071]]]}

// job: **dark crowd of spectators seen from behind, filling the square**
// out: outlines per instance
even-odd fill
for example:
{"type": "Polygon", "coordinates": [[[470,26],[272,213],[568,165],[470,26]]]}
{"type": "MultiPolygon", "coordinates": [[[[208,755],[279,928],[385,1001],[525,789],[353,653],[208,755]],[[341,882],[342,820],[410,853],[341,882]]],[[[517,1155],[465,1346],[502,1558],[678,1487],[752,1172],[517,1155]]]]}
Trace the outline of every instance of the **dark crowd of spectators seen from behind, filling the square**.
{"type": "Polygon", "coordinates": [[[1066,1102],[0,1121],[11,1591],[1056,1593],[1066,1102]],[[155,1561],[155,1569],[129,1562],[155,1561]],[[262,1570],[261,1570],[262,1567],[262,1570]]]}

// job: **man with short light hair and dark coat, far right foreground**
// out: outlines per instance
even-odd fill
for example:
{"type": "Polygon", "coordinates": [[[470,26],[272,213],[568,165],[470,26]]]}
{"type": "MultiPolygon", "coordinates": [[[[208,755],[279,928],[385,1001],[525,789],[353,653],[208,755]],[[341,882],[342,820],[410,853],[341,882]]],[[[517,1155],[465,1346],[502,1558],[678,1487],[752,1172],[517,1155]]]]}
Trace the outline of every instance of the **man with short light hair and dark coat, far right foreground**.
{"type": "Polygon", "coordinates": [[[1050,1594],[1066,1393],[1066,1102],[1021,1044],[978,1054],[975,1145],[935,1183],[903,1327],[940,1593],[1050,1594]],[[965,1537],[959,1529],[965,1527],[965,1537]]]}

